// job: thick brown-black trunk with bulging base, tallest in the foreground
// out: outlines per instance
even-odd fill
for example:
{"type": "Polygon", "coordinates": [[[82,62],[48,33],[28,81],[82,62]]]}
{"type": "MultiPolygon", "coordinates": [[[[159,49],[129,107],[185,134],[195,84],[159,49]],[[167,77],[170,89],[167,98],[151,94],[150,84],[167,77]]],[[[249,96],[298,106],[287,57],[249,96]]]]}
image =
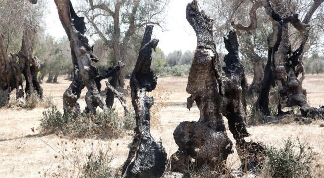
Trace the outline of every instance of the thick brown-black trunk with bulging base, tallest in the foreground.
{"type": "Polygon", "coordinates": [[[173,136],[179,146],[172,156],[171,171],[183,172],[185,166],[194,158],[195,165],[203,164],[225,168],[225,161],[233,152],[232,142],[226,134],[222,115],[224,84],[222,68],[213,42],[213,20],[200,12],[194,0],[188,4],[186,18],[197,35],[197,48],[189,73],[187,92],[188,109],[193,102],[200,110],[198,122],[182,122],[173,136]],[[185,162],[184,162],[185,161],[185,162]]]}

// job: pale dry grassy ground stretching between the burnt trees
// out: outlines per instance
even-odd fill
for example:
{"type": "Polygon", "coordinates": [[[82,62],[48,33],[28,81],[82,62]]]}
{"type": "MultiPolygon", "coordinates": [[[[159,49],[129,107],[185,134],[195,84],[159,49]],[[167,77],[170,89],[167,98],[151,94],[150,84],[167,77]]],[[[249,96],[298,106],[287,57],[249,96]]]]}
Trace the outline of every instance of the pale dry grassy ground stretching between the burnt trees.
{"type": "MultiPolygon", "coordinates": [[[[251,77],[249,77],[249,82],[251,77]]],[[[158,79],[158,86],[169,93],[167,107],[160,111],[160,125],[152,128],[152,135],[156,140],[162,140],[168,156],[177,150],[172,133],[182,121],[197,121],[199,110],[197,107],[186,109],[186,77],[164,77],[158,79]]],[[[59,84],[43,83],[44,95],[53,97],[54,104],[62,108],[62,95],[70,81],[59,78],[59,84]]],[[[307,75],[304,87],[308,91],[308,101],[311,106],[324,104],[324,75],[307,75]]],[[[85,95],[85,90],[82,96],[85,95]]],[[[129,101],[130,98],[128,98],[129,101]]],[[[79,100],[84,108],[84,97],[79,100]]],[[[115,102],[117,109],[121,106],[115,102]]],[[[159,107],[156,103],[155,107],[159,107]]],[[[112,168],[118,168],[127,158],[128,144],[131,136],[117,140],[76,139],[68,140],[55,134],[43,137],[35,136],[39,127],[39,120],[44,108],[0,109],[0,177],[1,178],[48,178],[48,177],[78,177],[78,168],[86,161],[85,154],[97,153],[98,148],[107,149],[113,158],[112,168]],[[35,133],[31,128],[35,128],[35,133]]],[[[225,122],[226,119],[225,119],[225,122]]],[[[324,172],[324,128],[319,122],[310,125],[299,124],[270,124],[249,127],[254,141],[262,141],[279,147],[282,139],[299,137],[307,142],[319,154],[315,158],[317,172],[324,172]]],[[[232,141],[231,133],[228,134],[232,141]]],[[[229,156],[228,165],[232,168],[239,166],[236,150],[229,156]]],[[[319,177],[319,176],[318,176],[319,177]]]]}

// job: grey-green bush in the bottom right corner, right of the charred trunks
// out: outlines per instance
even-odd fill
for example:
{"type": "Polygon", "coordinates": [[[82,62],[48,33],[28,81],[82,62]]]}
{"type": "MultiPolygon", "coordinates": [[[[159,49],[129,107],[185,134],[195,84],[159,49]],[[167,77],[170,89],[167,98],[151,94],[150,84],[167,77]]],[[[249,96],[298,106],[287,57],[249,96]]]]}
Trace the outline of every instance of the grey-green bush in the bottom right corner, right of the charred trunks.
{"type": "Polygon", "coordinates": [[[306,143],[297,143],[291,138],[282,148],[267,147],[264,171],[272,178],[313,178],[311,173],[314,152],[306,143]]]}

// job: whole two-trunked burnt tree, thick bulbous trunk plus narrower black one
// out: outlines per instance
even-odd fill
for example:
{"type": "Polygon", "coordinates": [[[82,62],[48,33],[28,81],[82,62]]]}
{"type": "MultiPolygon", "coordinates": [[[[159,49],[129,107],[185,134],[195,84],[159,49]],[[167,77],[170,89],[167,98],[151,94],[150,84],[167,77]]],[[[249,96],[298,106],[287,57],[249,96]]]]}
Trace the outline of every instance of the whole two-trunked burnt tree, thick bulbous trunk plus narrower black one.
{"type": "Polygon", "coordinates": [[[190,109],[196,102],[200,118],[198,122],[182,122],[175,129],[173,135],[179,149],[171,156],[171,171],[183,172],[188,164],[196,165],[198,169],[203,165],[218,168],[220,174],[226,170],[226,159],[233,150],[223,115],[227,117],[236,140],[242,165],[254,169],[262,163],[257,158],[265,153],[261,144],[244,140],[250,136],[244,123],[248,86],[238,55],[237,35],[231,31],[224,38],[229,53],[224,58],[226,67],[221,68],[213,41],[213,20],[199,11],[196,0],[188,4],[186,14],[197,35],[197,48],[187,84],[187,92],[191,94],[187,104],[190,109]]]}

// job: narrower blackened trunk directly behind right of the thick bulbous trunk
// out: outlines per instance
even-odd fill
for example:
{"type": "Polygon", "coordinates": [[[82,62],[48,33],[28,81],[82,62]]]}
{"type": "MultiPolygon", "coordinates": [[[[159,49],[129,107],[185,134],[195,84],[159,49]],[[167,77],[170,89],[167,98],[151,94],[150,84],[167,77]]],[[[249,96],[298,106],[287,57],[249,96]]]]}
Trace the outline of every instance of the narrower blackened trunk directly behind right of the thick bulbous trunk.
{"type": "Polygon", "coordinates": [[[225,97],[223,98],[223,115],[228,119],[229,130],[236,141],[237,153],[242,162],[241,169],[255,171],[261,167],[265,153],[262,143],[246,142],[245,137],[250,136],[247,132],[246,119],[246,94],[248,84],[245,78],[245,67],[239,58],[238,40],[236,32],[230,31],[227,38],[224,38],[225,48],[229,52],[224,62],[223,77],[225,97]]]}

